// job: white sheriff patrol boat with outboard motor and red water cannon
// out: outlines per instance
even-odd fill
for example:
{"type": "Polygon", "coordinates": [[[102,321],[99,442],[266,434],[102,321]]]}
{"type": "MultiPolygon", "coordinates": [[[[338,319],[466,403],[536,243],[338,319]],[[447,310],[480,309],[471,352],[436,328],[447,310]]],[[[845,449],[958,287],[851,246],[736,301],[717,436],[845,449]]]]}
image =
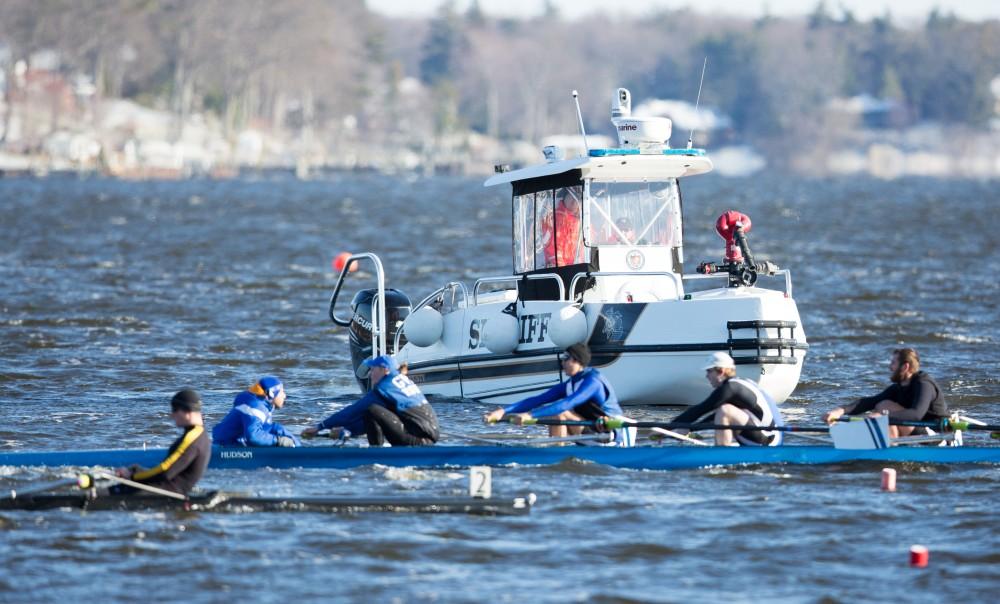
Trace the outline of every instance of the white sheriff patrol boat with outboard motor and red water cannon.
{"type": "Polygon", "coordinates": [[[784,401],[808,348],[790,273],[754,260],[750,218],[731,210],[715,224],[721,262],[685,274],[680,180],[712,162],[703,149],[670,148],[671,121],[632,116],[624,88],[611,115],[619,147],[569,159],[547,147],[546,163],[498,166],[485,182],[513,189],[511,275],[453,281],[411,305],[385,288],[376,255],[351,256],[329,315],[350,330],[355,368],[393,353],[425,393],[507,403],[558,383],[558,353],[586,342],[622,403],[689,405],[710,391],[704,358],[724,351],[784,401]],[[357,263],[373,266],[376,287],[338,314],[357,263]]]}

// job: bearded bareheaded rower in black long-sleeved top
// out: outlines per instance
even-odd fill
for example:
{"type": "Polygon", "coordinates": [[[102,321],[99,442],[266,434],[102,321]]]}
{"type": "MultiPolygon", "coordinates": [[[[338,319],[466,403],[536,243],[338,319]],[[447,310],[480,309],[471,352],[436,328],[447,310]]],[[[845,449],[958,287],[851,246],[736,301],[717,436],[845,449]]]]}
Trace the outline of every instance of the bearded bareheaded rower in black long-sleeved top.
{"type": "MultiPolygon", "coordinates": [[[[848,405],[834,407],[823,416],[829,424],[844,415],[888,415],[889,421],[940,422],[948,418],[948,403],[931,376],[920,370],[920,355],[912,348],[897,348],[889,361],[892,384],[876,394],[848,405]]],[[[925,428],[889,426],[889,436],[926,434],[925,428]]]]}

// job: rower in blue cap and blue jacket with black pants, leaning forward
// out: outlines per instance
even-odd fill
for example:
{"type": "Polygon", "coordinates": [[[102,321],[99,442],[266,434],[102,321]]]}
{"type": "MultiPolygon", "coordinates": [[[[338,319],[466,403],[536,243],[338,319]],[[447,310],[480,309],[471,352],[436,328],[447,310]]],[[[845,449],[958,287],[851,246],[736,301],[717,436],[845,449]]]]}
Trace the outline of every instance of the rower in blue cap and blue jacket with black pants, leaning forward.
{"type": "Polygon", "coordinates": [[[395,447],[433,445],[438,441],[438,421],[434,408],[410,378],[400,372],[390,355],[367,359],[358,366],[357,376],[369,378],[371,389],[314,427],[303,437],[330,430],[332,438],[367,434],[368,444],[382,446],[386,440],[395,447]]]}

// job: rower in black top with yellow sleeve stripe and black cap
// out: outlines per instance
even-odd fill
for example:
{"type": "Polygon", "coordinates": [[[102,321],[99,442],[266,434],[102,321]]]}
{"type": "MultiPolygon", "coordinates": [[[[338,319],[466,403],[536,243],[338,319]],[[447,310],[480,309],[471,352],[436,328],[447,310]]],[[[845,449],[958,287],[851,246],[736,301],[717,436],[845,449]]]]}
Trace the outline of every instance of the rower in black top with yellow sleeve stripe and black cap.
{"type": "MultiPolygon", "coordinates": [[[[170,399],[170,415],[184,433],[170,445],[167,456],[159,465],[148,470],[139,466],[118,468],[120,478],[128,478],[167,491],[187,495],[201,480],[212,457],[212,441],[205,431],[201,416],[201,397],[194,390],[181,390],[170,399]]],[[[111,493],[124,495],[136,492],[134,487],[114,485],[111,493]]]]}

